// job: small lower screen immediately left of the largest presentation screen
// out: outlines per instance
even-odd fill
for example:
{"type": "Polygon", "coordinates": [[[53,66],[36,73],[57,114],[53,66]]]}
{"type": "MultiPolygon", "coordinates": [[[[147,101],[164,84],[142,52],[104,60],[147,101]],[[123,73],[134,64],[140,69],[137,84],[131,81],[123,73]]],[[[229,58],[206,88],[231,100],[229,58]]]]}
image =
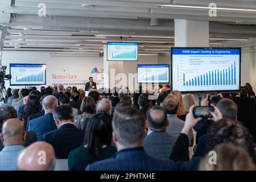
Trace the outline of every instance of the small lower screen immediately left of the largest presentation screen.
{"type": "Polygon", "coordinates": [[[161,83],[170,82],[170,65],[169,64],[144,64],[137,65],[138,83],[161,83]]]}

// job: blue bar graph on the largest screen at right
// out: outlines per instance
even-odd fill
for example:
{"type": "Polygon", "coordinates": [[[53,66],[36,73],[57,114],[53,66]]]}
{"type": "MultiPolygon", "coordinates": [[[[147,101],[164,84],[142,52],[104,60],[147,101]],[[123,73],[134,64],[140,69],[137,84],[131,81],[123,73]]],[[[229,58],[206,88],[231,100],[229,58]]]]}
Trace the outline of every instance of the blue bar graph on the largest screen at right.
{"type": "MultiPolygon", "coordinates": [[[[191,78],[190,80],[185,81],[184,86],[203,86],[203,85],[236,85],[236,63],[230,65],[229,68],[216,69],[214,71],[209,71],[195,76],[195,78],[191,78]],[[187,84],[185,84],[187,83],[187,84]]],[[[185,75],[184,75],[185,78],[185,75]]]]}

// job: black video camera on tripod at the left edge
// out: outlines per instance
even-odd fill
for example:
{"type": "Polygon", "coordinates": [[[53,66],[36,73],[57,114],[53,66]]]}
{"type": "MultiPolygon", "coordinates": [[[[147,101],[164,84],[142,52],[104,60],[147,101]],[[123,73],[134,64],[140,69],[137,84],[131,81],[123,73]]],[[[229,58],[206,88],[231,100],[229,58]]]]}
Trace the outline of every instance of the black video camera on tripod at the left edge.
{"type": "Polygon", "coordinates": [[[6,75],[6,66],[0,68],[0,102],[7,103],[7,94],[5,89],[5,80],[11,80],[11,75],[6,75]]]}

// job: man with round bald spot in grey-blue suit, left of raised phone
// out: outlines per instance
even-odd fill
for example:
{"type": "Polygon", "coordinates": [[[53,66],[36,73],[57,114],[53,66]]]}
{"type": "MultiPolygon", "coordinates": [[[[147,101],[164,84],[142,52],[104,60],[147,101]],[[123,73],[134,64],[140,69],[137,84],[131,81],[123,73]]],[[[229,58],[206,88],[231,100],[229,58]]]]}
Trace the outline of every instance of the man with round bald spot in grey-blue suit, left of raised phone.
{"type": "Polygon", "coordinates": [[[146,122],[150,133],[144,139],[144,150],[154,158],[169,160],[176,138],[166,132],[169,125],[166,111],[161,106],[152,107],[147,111],[146,122]]]}

